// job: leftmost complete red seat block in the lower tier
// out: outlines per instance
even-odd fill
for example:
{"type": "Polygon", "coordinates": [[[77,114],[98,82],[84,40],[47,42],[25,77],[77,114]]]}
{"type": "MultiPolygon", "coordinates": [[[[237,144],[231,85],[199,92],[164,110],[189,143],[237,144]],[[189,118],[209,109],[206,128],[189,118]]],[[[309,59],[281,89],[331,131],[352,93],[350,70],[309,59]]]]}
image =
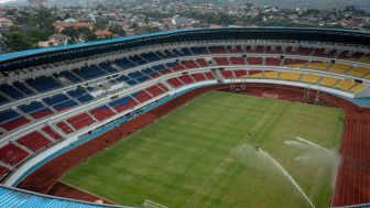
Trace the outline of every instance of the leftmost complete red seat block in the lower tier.
{"type": "Polygon", "coordinates": [[[0,160],[11,166],[21,163],[30,154],[15,144],[7,144],[0,149],[0,160]]]}

